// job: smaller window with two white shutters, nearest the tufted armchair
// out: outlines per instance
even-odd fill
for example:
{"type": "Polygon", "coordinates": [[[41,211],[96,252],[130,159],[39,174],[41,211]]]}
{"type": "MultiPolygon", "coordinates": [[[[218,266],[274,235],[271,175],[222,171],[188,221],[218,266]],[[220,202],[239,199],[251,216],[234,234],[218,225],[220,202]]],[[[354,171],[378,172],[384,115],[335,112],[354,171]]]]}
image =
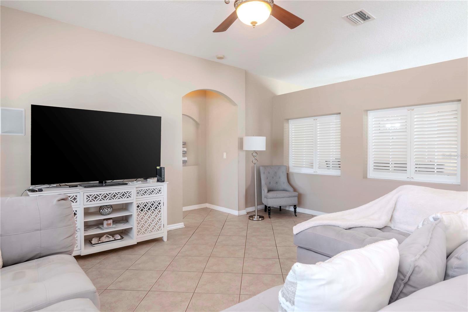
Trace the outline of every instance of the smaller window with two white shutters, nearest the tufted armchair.
{"type": "Polygon", "coordinates": [[[289,120],[289,171],[340,175],[340,114],[289,120]]]}

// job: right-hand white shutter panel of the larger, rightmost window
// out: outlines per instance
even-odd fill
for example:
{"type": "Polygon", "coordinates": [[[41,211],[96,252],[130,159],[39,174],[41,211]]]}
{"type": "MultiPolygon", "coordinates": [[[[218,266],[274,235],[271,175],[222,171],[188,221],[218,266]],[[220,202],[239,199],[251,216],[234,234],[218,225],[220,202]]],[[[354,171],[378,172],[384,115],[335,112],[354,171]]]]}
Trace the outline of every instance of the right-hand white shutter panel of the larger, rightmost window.
{"type": "Polygon", "coordinates": [[[459,181],[458,105],[412,109],[411,177],[459,181]]]}

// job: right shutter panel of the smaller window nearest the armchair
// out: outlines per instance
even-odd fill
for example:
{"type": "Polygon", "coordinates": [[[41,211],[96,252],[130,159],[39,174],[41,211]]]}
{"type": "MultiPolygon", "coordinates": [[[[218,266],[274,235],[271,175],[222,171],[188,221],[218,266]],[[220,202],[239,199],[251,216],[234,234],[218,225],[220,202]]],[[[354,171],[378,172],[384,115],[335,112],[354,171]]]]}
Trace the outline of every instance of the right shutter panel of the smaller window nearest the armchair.
{"type": "Polygon", "coordinates": [[[317,119],[317,172],[340,173],[341,169],[340,115],[317,119]]]}

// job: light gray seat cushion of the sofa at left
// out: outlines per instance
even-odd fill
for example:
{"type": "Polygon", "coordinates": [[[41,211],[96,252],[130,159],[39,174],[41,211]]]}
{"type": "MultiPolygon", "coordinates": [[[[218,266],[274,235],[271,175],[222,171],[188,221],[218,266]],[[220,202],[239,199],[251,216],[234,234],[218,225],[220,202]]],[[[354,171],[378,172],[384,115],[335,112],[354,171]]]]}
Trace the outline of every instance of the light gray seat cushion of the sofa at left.
{"type": "Polygon", "coordinates": [[[36,311],[74,298],[89,298],[99,308],[96,288],[71,255],[3,267],[0,282],[1,311],[36,311]]]}

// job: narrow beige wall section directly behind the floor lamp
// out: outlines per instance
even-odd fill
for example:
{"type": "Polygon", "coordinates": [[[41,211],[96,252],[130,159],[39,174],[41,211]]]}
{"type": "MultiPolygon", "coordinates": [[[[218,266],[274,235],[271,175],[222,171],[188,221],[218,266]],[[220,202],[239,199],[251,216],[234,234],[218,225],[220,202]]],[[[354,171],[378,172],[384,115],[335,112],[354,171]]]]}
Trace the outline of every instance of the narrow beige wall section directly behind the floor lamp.
{"type": "MultiPolygon", "coordinates": [[[[246,72],[245,74],[245,126],[248,136],[265,136],[266,150],[258,151],[257,163],[257,204],[262,204],[262,189],[260,186],[259,166],[271,165],[272,163],[272,145],[271,130],[275,125],[271,123],[273,97],[278,94],[293,92],[304,89],[301,86],[291,83],[280,82],[271,78],[258,76],[246,72]]],[[[242,148],[242,146],[241,146],[242,148]]],[[[254,189],[254,165],[252,164],[251,152],[247,151],[245,156],[245,207],[255,205],[254,189]]]]}

